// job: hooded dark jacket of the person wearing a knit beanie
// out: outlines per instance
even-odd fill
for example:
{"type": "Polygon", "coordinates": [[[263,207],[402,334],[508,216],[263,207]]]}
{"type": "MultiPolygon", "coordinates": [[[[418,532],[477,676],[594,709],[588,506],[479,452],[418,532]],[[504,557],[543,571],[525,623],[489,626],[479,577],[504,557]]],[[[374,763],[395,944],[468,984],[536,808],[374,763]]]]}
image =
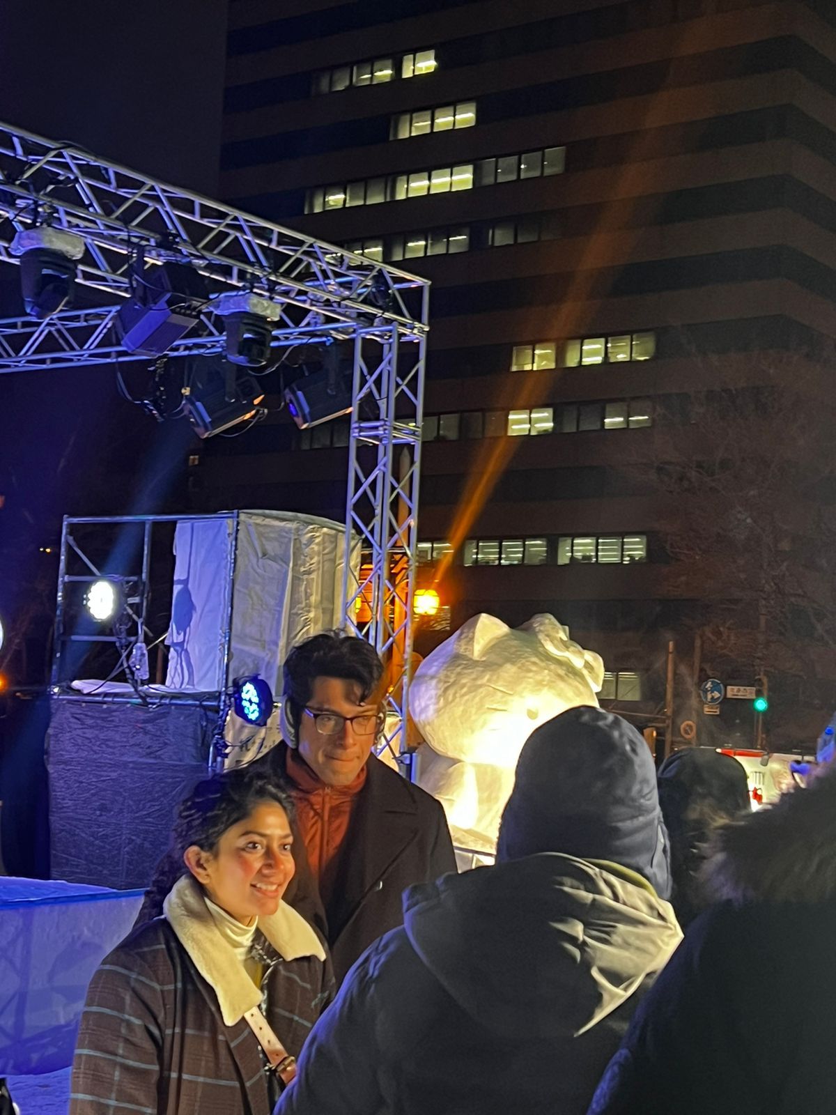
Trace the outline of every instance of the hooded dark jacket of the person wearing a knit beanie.
{"type": "Polygon", "coordinates": [[[275,1115],[581,1115],[681,937],[638,875],[554,853],[411,888],[404,910],[275,1115]]]}

